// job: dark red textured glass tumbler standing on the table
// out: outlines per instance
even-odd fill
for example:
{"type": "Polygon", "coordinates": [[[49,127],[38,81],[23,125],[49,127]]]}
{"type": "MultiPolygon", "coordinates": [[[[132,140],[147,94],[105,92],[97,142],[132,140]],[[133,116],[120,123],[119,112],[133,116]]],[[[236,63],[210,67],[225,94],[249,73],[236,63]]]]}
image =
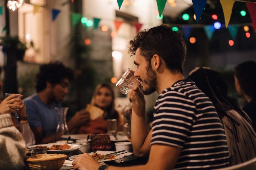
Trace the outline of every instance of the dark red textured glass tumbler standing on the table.
{"type": "Polygon", "coordinates": [[[110,136],[108,134],[93,134],[91,138],[97,139],[91,142],[91,149],[93,151],[107,151],[110,148],[110,136]]]}

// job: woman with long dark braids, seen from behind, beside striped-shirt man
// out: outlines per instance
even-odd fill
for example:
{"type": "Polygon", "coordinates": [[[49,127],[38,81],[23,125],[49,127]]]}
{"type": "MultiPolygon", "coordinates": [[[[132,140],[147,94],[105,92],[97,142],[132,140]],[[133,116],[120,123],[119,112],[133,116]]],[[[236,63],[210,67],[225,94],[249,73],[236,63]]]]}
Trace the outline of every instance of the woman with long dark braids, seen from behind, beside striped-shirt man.
{"type": "Polygon", "coordinates": [[[197,67],[188,75],[213,102],[226,133],[230,165],[256,157],[256,133],[251,119],[228,96],[221,74],[211,68],[197,67]]]}

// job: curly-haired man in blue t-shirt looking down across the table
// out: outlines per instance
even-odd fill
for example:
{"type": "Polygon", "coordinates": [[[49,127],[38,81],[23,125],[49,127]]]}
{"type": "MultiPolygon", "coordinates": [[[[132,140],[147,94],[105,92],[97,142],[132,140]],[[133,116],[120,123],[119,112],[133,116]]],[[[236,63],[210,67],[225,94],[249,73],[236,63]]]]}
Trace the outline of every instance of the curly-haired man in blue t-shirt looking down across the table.
{"type": "MultiPolygon", "coordinates": [[[[70,81],[74,79],[71,68],[61,62],[43,64],[36,75],[36,94],[25,98],[27,115],[37,144],[56,141],[58,113],[55,107],[62,107],[60,102],[68,94],[70,81]]],[[[76,114],[68,123],[72,129],[89,119],[87,114],[76,114]]]]}

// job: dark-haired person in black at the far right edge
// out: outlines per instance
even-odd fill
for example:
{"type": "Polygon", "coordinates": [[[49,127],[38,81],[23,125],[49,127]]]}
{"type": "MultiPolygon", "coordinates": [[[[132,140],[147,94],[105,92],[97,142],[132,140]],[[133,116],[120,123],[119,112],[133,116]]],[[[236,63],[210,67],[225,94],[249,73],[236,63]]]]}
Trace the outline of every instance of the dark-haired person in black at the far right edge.
{"type": "Polygon", "coordinates": [[[256,130],[256,62],[246,61],[235,67],[235,87],[240,96],[246,99],[243,110],[252,120],[252,126],[256,130]]]}

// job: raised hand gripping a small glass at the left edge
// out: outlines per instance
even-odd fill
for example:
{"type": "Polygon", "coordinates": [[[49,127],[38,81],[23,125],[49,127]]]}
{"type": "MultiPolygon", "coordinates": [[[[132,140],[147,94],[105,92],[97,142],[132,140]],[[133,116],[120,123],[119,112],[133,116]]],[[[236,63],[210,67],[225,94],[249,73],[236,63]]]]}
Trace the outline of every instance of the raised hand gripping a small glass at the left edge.
{"type": "Polygon", "coordinates": [[[6,97],[1,103],[0,103],[0,114],[6,114],[6,113],[16,113],[12,108],[21,108],[24,106],[21,106],[22,101],[21,98],[17,98],[19,95],[13,94],[8,97],[6,97]]]}

